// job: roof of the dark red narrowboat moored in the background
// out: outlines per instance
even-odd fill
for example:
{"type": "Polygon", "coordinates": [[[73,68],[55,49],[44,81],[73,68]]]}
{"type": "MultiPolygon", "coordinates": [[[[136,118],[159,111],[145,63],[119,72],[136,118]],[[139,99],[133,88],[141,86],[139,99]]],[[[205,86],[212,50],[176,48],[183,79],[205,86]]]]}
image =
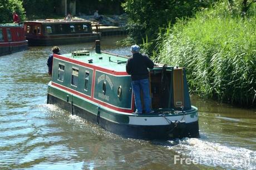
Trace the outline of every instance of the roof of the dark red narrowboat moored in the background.
{"type": "Polygon", "coordinates": [[[85,19],[73,19],[71,21],[67,21],[65,19],[36,19],[31,21],[24,21],[23,23],[57,24],[57,23],[91,23],[91,22],[85,19]]]}

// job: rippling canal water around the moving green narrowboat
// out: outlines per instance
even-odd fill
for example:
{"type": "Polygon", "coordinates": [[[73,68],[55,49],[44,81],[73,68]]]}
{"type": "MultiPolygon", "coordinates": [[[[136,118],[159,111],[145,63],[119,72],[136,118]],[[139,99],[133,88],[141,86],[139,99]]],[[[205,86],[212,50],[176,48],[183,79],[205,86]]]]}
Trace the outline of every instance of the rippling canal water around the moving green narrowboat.
{"type": "MultiPolygon", "coordinates": [[[[129,55],[104,37],[105,51],[129,55]]],[[[61,53],[93,43],[60,46],[61,53]]],[[[256,109],[191,97],[200,138],[122,138],[46,104],[51,47],[0,57],[0,169],[256,169],[256,109]]]]}

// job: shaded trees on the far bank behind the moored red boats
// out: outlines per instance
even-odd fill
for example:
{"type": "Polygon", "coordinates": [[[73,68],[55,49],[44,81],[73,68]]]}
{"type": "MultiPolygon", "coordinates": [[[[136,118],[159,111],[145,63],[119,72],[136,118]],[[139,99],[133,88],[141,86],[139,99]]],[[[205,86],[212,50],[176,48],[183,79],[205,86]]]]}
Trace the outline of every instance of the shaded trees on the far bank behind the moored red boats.
{"type": "MultiPolygon", "coordinates": [[[[76,13],[92,15],[95,9],[99,9],[100,14],[121,14],[124,10],[121,3],[125,0],[100,0],[82,1],[67,0],[67,12],[71,12],[70,3],[76,2],[76,13]]],[[[1,0],[0,1],[0,22],[12,22],[12,11],[16,10],[21,21],[27,19],[64,18],[65,1],[63,0],[1,0]],[[25,12],[26,11],[26,12],[25,12]],[[25,15],[26,14],[26,15],[25,15]]]]}

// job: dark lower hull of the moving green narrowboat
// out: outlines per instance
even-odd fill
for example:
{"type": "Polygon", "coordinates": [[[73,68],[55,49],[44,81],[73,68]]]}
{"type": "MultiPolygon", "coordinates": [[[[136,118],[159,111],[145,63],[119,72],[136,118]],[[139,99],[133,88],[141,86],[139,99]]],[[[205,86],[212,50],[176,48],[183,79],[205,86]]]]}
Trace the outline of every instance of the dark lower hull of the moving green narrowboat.
{"type": "MultiPolygon", "coordinates": [[[[106,129],[107,131],[119,134],[122,137],[150,140],[199,137],[197,109],[194,109],[193,113],[191,113],[191,115],[193,114],[193,116],[196,116],[194,121],[191,122],[169,121],[168,124],[146,124],[141,120],[148,119],[147,121],[150,122],[150,119],[154,121],[154,119],[161,118],[167,120],[169,118],[167,116],[165,117],[164,114],[142,114],[140,116],[136,114],[116,114],[115,117],[115,114],[112,114],[102,108],[98,108],[97,112],[91,112],[90,109],[85,109],[81,106],[77,106],[75,103],[64,101],[63,99],[53,96],[49,93],[47,96],[47,103],[56,104],[66,111],[70,111],[71,114],[75,114],[81,118],[87,119],[90,122],[99,124],[99,126],[106,129]],[[107,116],[110,114],[115,117],[115,121],[113,121],[113,119],[110,120],[107,118],[107,116]],[[136,123],[136,120],[137,122],[142,122],[142,124],[136,123]]],[[[95,105],[94,108],[97,108],[97,106],[95,105]]],[[[175,117],[173,118],[175,119],[175,117]]],[[[180,116],[177,116],[177,120],[178,119],[180,119],[180,116]]]]}

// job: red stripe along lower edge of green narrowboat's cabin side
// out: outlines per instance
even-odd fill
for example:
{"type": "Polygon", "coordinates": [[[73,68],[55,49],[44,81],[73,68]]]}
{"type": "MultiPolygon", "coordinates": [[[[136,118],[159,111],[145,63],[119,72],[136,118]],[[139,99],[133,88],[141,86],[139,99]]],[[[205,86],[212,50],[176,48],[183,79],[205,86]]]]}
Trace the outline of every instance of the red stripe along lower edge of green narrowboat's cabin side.
{"type": "MultiPolygon", "coordinates": [[[[90,100],[90,101],[92,101],[92,102],[99,103],[99,104],[101,104],[102,106],[105,106],[105,107],[107,107],[107,108],[113,109],[113,110],[115,110],[115,111],[125,112],[125,113],[132,113],[132,109],[124,109],[124,108],[119,108],[119,107],[116,107],[116,106],[112,106],[111,104],[108,104],[108,103],[105,103],[105,102],[101,102],[101,101],[99,101],[98,99],[94,99],[94,98],[92,98],[92,97],[88,97],[88,96],[86,96],[85,94],[82,94],[82,93],[77,92],[77,91],[75,91],[75,90],[73,90],[73,89],[67,88],[67,87],[65,87],[65,86],[62,86],[61,84],[57,84],[57,83],[55,83],[55,82],[52,82],[52,86],[56,86],[56,87],[61,88],[61,89],[65,90],[65,91],[68,91],[68,92],[71,92],[71,93],[73,93],[73,94],[76,94],[77,96],[86,98],[86,99],[88,99],[88,100],[90,100]]],[[[134,102],[132,102],[132,103],[134,103],[134,102]]],[[[132,108],[133,108],[133,107],[132,107],[132,108]]]]}

